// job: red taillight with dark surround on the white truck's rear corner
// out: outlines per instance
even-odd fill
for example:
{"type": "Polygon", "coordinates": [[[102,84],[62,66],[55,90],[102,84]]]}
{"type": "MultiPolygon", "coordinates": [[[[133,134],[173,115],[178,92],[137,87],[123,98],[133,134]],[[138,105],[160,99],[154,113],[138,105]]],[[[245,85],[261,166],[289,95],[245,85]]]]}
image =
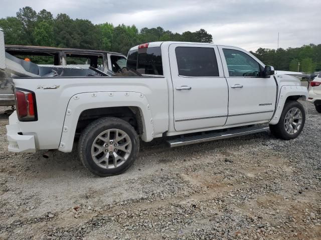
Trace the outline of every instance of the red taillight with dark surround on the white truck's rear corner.
{"type": "Polygon", "coordinates": [[[20,121],[37,121],[36,95],[34,92],[16,88],[16,108],[20,121]]]}

